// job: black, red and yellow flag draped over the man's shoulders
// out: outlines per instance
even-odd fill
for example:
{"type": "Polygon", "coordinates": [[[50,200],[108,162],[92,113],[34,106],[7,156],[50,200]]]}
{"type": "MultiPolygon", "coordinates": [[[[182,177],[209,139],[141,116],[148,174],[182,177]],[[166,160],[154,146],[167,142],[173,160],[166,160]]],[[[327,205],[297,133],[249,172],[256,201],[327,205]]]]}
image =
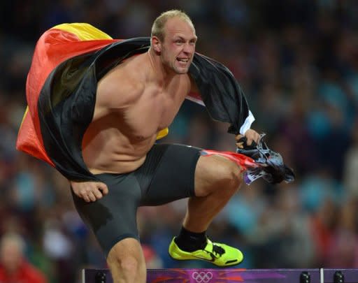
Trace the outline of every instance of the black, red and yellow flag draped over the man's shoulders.
{"type": "MultiPolygon", "coordinates": [[[[27,75],[27,110],[17,150],[46,161],[69,180],[97,180],[82,157],[82,140],[92,121],[97,82],[124,59],[146,52],[150,38],[113,39],[90,24],[60,24],[39,38],[27,75]]],[[[188,99],[206,106],[213,119],[239,133],[248,103],[222,64],[194,55],[189,74],[199,94],[188,99]]],[[[118,86],[120,87],[120,85],[118,86]]],[[[167,131],[159,132],[157,138],[167,131]]]]}

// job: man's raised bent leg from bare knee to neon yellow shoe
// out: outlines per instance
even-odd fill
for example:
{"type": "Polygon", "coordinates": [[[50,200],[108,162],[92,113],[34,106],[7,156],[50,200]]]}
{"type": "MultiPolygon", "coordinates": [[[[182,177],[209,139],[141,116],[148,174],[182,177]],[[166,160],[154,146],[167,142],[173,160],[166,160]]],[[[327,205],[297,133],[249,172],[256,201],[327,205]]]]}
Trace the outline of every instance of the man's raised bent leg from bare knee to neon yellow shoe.
{"type": "Polygon", "coordinates": [[[169,245],[173,259],[201,259],[221,267],[243,261],[239,249],[206,237],[210,222],[240,184],[240,168],[234,162],[217,155],[199,158],[195,170],[196,196],[189,198],[182,229],[169,245]]]}

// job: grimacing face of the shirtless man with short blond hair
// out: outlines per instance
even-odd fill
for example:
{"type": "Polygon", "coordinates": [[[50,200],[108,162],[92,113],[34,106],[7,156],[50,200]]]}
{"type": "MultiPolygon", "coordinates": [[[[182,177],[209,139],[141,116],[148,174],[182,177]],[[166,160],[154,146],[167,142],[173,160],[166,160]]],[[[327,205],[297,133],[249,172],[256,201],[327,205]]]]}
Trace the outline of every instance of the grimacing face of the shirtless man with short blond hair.
{"type": "Polygon", "coordinates": [[[189,22],[173,17],[164,26],[162,63],[175,73],[187,73],[195,52],[196,35],[189,22]]]}

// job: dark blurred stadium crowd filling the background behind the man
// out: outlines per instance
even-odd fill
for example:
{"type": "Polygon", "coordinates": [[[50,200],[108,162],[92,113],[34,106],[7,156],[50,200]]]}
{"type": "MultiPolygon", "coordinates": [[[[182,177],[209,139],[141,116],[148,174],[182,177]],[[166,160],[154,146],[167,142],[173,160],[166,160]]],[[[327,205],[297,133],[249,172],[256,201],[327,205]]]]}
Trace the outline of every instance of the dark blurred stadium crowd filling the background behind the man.
{"type": "MultiPolygon", "coordinates": [[[[296,173],[290,184],[243,185],[210,226],[210,238],[242,249],[241,268],[358,268],[354,0],[1,1],[0,235],[22,238],[24,260],[51,283],[79,282],[81,268],[106,267],[67,180],[15,150],[27,71],[38,37],[55,24],[88,22],[113,38],[149,36],[155,17],[171,8],[192,17],[197,51],[231,69],[256,117],[252,127],[296,173]]],[[[185,101],[160,142],[235,150],[227,128],[185,101]]],[[[140,208],[148,268],[213,267],[169,258],[185,204],[140,208]]]]}

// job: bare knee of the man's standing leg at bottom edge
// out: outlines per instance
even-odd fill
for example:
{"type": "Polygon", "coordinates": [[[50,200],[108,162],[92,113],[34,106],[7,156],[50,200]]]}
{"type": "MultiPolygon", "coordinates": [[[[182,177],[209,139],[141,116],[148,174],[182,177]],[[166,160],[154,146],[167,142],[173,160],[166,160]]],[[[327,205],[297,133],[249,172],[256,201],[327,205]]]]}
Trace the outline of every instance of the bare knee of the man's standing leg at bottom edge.
{"type": "Polygon", "coordinates": [[[117,242],[107,257],[113,283],[145,283],[145,260],[141,244],[134,238],[117,242]]]}

